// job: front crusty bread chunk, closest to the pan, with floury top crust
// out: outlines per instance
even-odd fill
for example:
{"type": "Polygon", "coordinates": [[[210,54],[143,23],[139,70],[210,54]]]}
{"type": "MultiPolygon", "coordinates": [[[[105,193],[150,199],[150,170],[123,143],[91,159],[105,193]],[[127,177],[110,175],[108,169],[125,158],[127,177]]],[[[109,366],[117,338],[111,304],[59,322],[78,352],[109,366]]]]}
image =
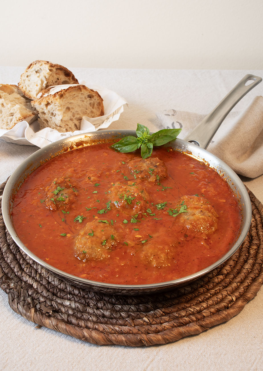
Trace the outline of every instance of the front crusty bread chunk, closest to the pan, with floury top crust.
{"type": "Polygon", "coordinates": [[[32,105],[38,111],[40,129],[50,127],[59,132],[80,130],[82,116],[104,115],[100,94],[85,85],[61,85],[39,93],[32,105]]]}

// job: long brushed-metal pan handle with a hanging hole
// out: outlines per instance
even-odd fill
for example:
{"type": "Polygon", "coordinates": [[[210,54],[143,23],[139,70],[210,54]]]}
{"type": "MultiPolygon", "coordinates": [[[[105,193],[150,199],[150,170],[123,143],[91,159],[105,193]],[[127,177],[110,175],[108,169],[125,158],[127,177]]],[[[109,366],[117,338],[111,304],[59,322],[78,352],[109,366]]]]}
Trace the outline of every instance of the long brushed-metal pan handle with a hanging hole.
{"type": "Polygon", "coordinates": [[[231,109],[240,101],[240,99],[243,98],[244,95],[246,95],[246,93],[261,81],[262,78],[258,76],[244,76],[235,88],[233,88],[225,98],[222,99],[210,114],[203,118],[203,120],[184,138],[184,140],[199,145],[201,148],[207,148],[211,139],[231,109]]]}

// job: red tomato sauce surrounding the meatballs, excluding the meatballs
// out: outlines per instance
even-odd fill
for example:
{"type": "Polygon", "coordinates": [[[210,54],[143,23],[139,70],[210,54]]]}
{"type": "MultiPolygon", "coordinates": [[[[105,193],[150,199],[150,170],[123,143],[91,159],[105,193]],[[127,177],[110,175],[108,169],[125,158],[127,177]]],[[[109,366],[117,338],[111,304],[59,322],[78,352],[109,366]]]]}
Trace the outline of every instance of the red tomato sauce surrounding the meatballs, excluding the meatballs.
{"type": "MultiPolygon", "coordinates": [[[[241,217],[236,196],[223,178],[186,154],[158,147],[152,157],[165,163],[167,176],[150,182],[139,179],[129,169],[127,163],[134,157],[140,158],[140,153],[122,154],[111,150],[109,144],[98,144],[65,152],[41,165],[26,178],[14,197],[12,217],[21,241],[35,255],[64,272],[118,284],[182,278],[225,255],[239,233],[241,217]],[[97,181],[88,183],[87,176],[95,176],[97,181]],[[78,194],[65,210],[52,211],[43,202],[45,188],[61,177],[68,177],[78,194]],[[149,194],[147,211],[132,218],[112,203],[107,209],[109,187],[118,182],[144,187],[149,194]],[[218,214],[217,229],[204,236],[182,228],[187,212],[174,217],[168,213],[169,209],[180,209],[178,200],[182,196],[208,200],[218,214]],[[78,216],[81,218],[76,220],[78,216]],[[136,221],[132,223],[132,219],[136,221]],[[75,239],[85,223],[94,220],[107,220],[119,242],[107,249],[109,257],[82,261],[75,257],[75,239]],[[147,246],[150,253],[145,258],[147,246]]],[[[104,225],[100,222],[101,229],[104,225]]]]}

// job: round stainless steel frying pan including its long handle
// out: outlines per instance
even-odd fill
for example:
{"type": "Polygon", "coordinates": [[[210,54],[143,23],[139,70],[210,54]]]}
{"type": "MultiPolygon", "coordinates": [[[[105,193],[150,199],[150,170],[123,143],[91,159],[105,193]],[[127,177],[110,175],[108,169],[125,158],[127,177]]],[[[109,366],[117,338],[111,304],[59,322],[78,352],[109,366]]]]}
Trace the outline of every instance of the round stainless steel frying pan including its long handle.
{"type": "Polygon", "coordinates": [[[4,223],[6,224],[7,230],[9,231],[14,242],[23,250],[28,256],[33,260],[43,266],[45,269],[49,270],[56,276],[73,283],[82,288],[107,292],[113,294],[145,294],[153,293],[161,290],[169,290],[178,286],[185,285],[186,283],[192,282],[200,278],[201,276],[208,273],[210,270],[219,266],[225,260],[227,260],[233,253],[238,249],[245,239],[247,232],[251,223],[251,203],[249,195],[246,191],[240,178],[236,173],[218,157],[206,151],[205,148],[208,146],[213,135],[219,128],[223,119],[230,112],[230,110],[236,105],[236,103],[254,86],[262,81],[262,78],[246,75],[232,91],[227,94],[227,96],[216,106],[213,111],[203,119],[202,122],[189,134],[184,140],[176,139],[170,142],[173,148],[178,151],[186,152],[190,156],[196,158],[200,161],[205,161],[209,163],[209,166],[215,169],[230,185],[234,193],[236,194],[237,200],[239,201],[241,213],[242,213],[242,223],[239,231],[239,236],[237,237],[235,243],[230,247],[229,251],[217,262],[206,267],[205,269],[196,272],[190,276],[182,277],[180,279],[154,283],[148,285],[116,285],[110,283],[94,282],[84,278],[78,278],[76,276],[65,273],[49,264],[39,259],[34,255],[19,239],[16,230],[13,226],[13,221],[11,217],[11,210],[13,205],[13,198],[19,189],[20,185],[23,183],[24,179],[36,169],[38,166],[43,164],[43,162],[48,161],[50,158],[63,153],[65,150],[72,150],[80,146],[88,146],[91,144],[103,142],[117,141],[128,135],[136,136],[135,131],[127,130],[111,130],[111,131],[97,131],[90,132],[81,135],[75,135],[70,138],[61,139],[53,144],[47,145],[44,148],[36,151],[30,157],[27,158],[11,175],[7,181],[6,187],[4,188],[2,197],[2,214],[4,223]]]}

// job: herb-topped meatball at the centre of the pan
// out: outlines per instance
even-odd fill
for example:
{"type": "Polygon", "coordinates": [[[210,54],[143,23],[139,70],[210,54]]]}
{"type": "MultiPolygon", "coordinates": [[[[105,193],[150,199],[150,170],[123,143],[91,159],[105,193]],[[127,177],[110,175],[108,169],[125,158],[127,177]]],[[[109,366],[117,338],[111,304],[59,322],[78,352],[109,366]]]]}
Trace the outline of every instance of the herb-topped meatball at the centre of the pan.
{"type": "Polygon", "coordinates": [[[118,209],[133,214],[145,212],[150,200],[148,192],[141,185],[132,182],[112,185],[108,190],[108,197],[118,209]]]}

